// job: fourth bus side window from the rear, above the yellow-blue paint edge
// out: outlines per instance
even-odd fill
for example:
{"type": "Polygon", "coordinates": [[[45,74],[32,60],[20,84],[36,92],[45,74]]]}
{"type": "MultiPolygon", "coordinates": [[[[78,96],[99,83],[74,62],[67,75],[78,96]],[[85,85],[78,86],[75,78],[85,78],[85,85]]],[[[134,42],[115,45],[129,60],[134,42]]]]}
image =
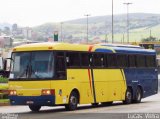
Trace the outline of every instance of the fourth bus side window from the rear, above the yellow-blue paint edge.
{"type": "Polygon", "coordinates": [[[117,66],[119,68],[125,68],[127,67],[127,55],[118,54],[117,55],[117,66]]]}

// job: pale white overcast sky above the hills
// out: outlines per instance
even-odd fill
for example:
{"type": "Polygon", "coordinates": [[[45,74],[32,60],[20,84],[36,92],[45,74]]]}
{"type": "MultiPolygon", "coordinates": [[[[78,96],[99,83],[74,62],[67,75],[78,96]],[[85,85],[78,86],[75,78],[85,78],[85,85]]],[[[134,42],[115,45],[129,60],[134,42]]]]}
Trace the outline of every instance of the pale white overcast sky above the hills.
{"type": "MultiPolygon", "coordinates": [[[[114,14],[126,14],[123,3],[133,3],[129,13],[160,14],[160,0],[113,0],[114,14]]],[[[112,0],[0,0],[0,23],[37,26],[112,14],[112,0]]]]}

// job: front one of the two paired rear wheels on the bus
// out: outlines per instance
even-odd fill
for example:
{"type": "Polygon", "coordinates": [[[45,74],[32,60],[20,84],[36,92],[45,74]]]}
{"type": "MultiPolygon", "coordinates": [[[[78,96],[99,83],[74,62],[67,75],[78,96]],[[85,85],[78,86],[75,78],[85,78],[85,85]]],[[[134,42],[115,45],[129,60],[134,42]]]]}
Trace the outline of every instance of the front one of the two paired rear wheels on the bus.
{"type": "Polygon", "coordinates": [[[132,91],[130,88],[127,88],[125,100],[123,101],[124,104],[132,103],[132,91]]]}

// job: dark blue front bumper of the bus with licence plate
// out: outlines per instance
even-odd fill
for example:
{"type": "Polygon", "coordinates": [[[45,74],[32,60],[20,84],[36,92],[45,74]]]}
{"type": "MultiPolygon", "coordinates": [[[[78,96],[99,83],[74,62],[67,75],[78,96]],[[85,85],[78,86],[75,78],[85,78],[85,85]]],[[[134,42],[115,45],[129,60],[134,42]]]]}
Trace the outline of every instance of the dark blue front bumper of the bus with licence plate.
{"type": "Polygon", "coordinates": [[[9,99],[11,105],[41,105],[41,106],[55,105],[54,95],[9,96],[9,99]]]}

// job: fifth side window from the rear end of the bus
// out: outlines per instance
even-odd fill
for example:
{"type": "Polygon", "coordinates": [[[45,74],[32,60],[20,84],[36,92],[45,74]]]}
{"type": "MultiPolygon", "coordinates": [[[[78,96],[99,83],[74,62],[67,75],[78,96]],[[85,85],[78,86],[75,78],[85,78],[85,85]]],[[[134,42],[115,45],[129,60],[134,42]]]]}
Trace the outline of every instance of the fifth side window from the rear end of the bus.
{"type": "Polygon", "coordinates": [[[117,67],[117,58],[115,54],[108,54],[107,55],[107,64],[109,68],[117,67]]]}

